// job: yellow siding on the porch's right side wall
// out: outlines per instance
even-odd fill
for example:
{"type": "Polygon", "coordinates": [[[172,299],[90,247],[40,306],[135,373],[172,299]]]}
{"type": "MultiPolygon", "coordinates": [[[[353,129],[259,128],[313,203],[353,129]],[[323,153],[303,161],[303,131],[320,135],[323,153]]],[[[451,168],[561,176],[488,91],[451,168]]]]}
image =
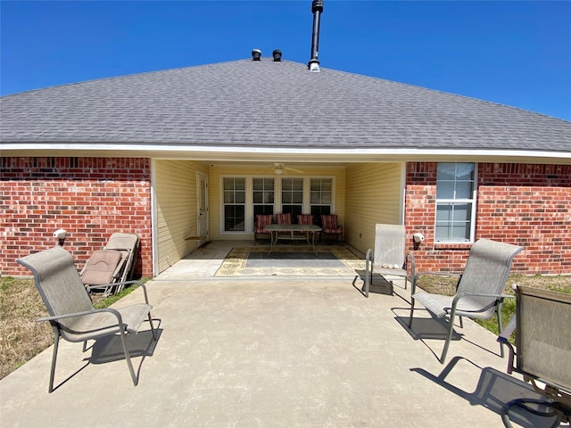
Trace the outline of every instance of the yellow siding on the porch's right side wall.
{"type": "Polygon", "coordinates": [[[360,251],[375,246],[377,223],[401,224],[402,163],[347,167],[345,240],[360,251]]]}

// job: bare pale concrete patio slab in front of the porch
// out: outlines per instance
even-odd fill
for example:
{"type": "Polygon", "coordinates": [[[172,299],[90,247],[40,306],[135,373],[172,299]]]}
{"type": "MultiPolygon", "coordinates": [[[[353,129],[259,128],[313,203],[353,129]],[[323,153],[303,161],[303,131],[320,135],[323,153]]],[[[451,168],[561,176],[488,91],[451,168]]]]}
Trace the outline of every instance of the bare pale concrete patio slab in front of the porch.
{"type": "MultiPolygon", "coordinates": [[[[119,343],[62,342],[0,382],[4,426],[503,426],[504,403],[533,391],[505,374],[496,337],[465,320],[438,362],[444,328],[410,293],[368,299],[352,276],[215,276],[233,247],[213,242],[147,283],[160,337],[129,338],[139,384],[119,343]],[[118,354],[119,350],[119,354],[118,354]]],[[[132,292],[116,305],[142,299],[132,292]]],[[[537,426],[515,416],[516,426],[537,426]]]]}

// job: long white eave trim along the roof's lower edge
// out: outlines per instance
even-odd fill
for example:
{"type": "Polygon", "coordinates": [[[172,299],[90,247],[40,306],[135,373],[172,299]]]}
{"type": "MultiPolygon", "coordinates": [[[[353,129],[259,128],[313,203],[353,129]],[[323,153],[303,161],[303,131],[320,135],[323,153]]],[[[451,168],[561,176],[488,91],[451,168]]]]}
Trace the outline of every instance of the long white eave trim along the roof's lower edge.
{"type": "Polygon", "coordinates": [[[2,144],[6,156],[145,157],[194,161],[393,162],[474,161],[571,164],[571,152],[512,149],[217,147],[164,144],[2,144]]]}

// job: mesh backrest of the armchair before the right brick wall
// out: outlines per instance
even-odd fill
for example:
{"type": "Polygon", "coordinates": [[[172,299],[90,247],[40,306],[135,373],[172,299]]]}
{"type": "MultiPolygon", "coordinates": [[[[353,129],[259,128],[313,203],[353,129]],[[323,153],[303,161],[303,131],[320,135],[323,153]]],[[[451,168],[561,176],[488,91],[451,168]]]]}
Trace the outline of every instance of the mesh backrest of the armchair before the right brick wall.
{"type": "MultiPolygon", "coordinates": [[[[480,239],[472,245],[466,268],[460,277],[457,293],[481,292],[501,294],[506,286],[511,262],[523,247],[510,243],[499,243],[489,239],[480,239]]],[[[497,299],[488,297],[470,297],[473,307],[485,309],[478,317],[491,317],[497,299]]]]}

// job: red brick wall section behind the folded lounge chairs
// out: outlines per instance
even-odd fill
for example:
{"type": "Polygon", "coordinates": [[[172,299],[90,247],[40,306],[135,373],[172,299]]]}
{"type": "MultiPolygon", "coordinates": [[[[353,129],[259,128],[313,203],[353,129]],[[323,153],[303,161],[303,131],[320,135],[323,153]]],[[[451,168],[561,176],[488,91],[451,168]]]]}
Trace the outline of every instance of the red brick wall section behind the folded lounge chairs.
{"type": "Polygon", "coordinates": [[[29,276],[14,260],[53,247],[62,228],[78,269],[112,233],[138,234],[137,271],[152,276],[148,159],[2,158],[1,166],[0,274],[29,276]]]}

